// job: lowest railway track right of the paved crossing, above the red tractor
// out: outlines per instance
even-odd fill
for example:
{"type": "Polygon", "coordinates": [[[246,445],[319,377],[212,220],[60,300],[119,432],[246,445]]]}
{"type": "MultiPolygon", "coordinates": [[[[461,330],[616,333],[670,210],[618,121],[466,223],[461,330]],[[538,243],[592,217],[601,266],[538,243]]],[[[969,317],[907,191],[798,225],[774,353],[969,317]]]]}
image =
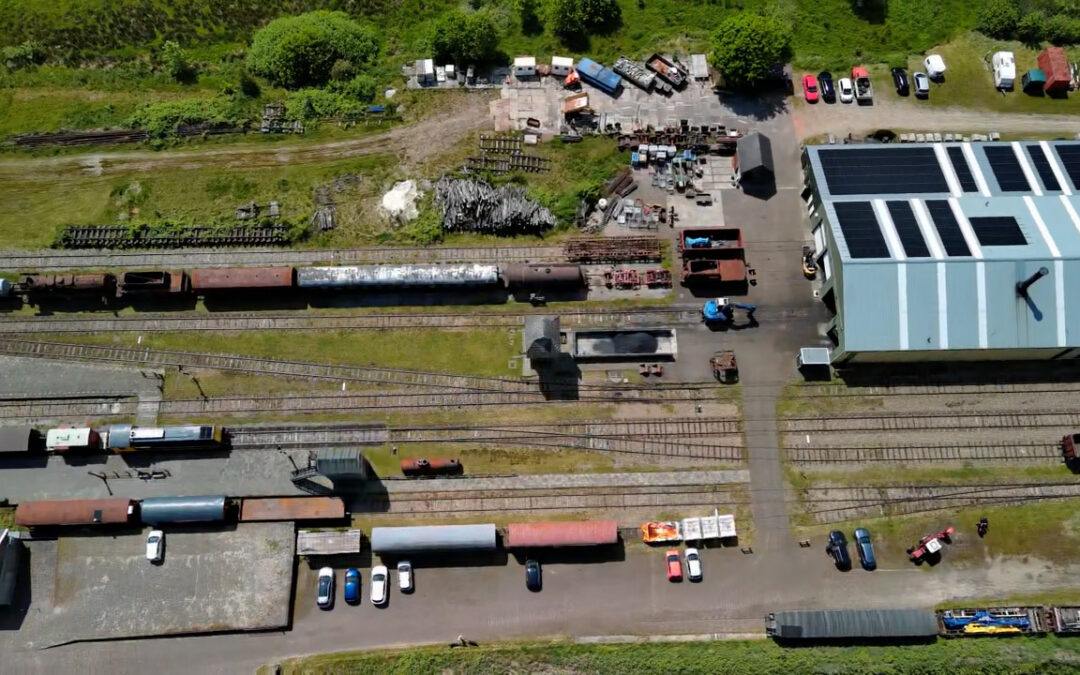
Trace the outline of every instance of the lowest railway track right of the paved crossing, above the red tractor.
{"type": "Polygon", "coordinates": [[[1076,497],[1080,497],[1080,483],[1076,482],[813,487],[801,490],[808,513],[819,523],[1076,497]]]}

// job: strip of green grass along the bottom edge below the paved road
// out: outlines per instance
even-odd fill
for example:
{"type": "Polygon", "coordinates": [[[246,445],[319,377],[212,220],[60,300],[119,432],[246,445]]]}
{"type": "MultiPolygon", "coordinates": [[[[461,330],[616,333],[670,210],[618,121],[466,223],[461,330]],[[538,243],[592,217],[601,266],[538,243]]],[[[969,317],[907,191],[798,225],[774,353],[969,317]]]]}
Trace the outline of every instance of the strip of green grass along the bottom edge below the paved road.
{"type": "MultiPolygon", "coordinates": [[[[1080,642],[1058,637],[939,640],[895,647],[779,647],[766,640],[718,640],[623,645],[504,643],[469,649],[445,646],[340,652],[289,659],[286,675],[300,673],[395,673],[494,675],[497,673],[809,673],[997,675],[1075,673],[1080,642]]],[[[260,674],[270,672],[268,666],[260,674]]]]}

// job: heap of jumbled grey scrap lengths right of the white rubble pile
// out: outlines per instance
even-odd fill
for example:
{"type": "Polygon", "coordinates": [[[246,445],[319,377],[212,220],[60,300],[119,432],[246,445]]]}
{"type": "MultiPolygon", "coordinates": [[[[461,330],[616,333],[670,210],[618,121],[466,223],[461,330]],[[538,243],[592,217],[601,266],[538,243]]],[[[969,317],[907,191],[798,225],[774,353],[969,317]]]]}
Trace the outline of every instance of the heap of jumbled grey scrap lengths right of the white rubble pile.
{"type": "Polygon", "coordinates": [[[555,227],[551,211],[517,186],[494,188],[482,180],[445,176],[435,184],[435,199],[448,232],[536,234],[555,227]]]}

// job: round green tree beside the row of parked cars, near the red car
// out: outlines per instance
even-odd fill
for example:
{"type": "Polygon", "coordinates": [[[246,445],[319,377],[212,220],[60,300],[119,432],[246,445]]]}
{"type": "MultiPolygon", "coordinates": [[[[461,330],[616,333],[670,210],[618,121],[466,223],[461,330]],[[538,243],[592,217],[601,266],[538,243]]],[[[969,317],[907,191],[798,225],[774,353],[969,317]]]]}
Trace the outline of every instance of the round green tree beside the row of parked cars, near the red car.
{"type": "Polygon", "coordinates": [[[759,14],[739,13],[724,21],[713,33],[713,65],[725,82],[753,85],[792,52],[792,31],[782,22],[759,14]]]}

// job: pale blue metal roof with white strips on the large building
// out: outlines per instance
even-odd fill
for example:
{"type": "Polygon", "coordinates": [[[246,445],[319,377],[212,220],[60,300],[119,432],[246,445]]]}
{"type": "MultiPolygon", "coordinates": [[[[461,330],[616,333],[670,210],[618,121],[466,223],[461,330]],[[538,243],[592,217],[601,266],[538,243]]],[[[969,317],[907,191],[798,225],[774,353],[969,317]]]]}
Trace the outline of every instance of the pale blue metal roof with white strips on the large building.
{"type": "Polygon", "coordinates": [[[930,148],[948,191],[834,194],[839,179],[833,176],[831,189],[822,148],[806,151],[828,232],[831,268],[839,276],[831,283],[838,284],[842,351],[1080,347],[1080,143],[827,149],[833,158],[837,151],[873,149],[880,159],[892,147],[930,148]],[[987,148],[996,150],[988,156],[987,148]],[[836,211],[846,202],[868,204],[873,217],[864,227],[879,228],[887,257],[852,255],[836,211]],[[1028,288],[1027,298],[1017,294],[1016,284],[1040,268],[1045,278],[1028,288]]]}

